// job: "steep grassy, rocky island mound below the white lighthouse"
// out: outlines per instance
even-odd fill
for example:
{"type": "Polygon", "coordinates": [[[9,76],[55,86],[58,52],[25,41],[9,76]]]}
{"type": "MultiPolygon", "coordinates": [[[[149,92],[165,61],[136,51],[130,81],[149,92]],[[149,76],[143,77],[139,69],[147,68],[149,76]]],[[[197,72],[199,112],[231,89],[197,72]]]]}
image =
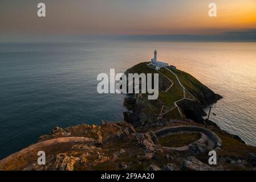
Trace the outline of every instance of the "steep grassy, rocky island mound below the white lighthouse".
{"type": "Polygon", "coordinates": [[[178,69],[161,68],[158,72],[147,63],[140,63],[127,69],[125,73],[159,73],[160,89],[157,100],[148,100],[147,94],[136,94],[124,100],[124,105],[131,110],[124,113],[125,121],[135,127],[157,121],[162,106],[162,113],[165,113],[162,118],[190,118],[202,123],[204,121],[201,116],[205,115],[202,109],[222,98],[193,76],[178,69]]]}

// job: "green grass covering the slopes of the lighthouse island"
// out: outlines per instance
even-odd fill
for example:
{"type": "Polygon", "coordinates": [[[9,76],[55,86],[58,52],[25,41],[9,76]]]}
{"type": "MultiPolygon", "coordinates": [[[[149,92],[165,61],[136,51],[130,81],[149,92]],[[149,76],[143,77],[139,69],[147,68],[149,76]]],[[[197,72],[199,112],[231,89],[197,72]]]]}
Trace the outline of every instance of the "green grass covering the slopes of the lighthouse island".
{"type": "MultiPolygon", "coordinates": [[[[198,81],[193,76],[189,75],[186,72],[182,72],[178,69],[169,68],[173,73],[175,73],[178,77],[178,80],[180,80],[182,86],[177,80],[177,77],[170,72],[169,70],[165,68],[161,68],[159,72],[157,72],[154,67],[150,68],[148,67],[148,62],[139,63],[135,65],[132,68],[129,68],[126,73],[161,73],[159,76],[164,78],[167,82],[170,82],[171,80],[173,82],[172,87],[168,90],[168,92],[160,91],[159,92],[159,99],[158,102],[156,101],[149,101],[147,111],[153,114],[159,114],[161,106],[164,105],[167,107],[166,110],[172,109],[173,107],[176,107],[174,104],[175,101],[182,100],[184,98],[184,90],[182,86],[185,87],[185,98],[188,99],[194,99],[197,101],[200,101],[202,105],[205,104],[212,104],[212,102],[216,101],[215,97],[216,94],[212,92],[209,88],[207,88],[205,85],[201,84],[200,81],[198,81]],[[166,78],[168,77],[169,80],[166,78]]],[[[161,85],[162,86],[162,85],[161,85]]],[[[165,85],[165,88],[167,88],[168,85],[165,85]]],[[[182,111],[182,110],[181,110],[182,111]]],[[[165,118],[181,118],[180,114],[178,113],[177,109],[174,109],[173,111],[170,111],[170,113],[167,113],[164,115],[165,118]]],[[[183,117],[183,116],[182,116],[183,117]]]]}

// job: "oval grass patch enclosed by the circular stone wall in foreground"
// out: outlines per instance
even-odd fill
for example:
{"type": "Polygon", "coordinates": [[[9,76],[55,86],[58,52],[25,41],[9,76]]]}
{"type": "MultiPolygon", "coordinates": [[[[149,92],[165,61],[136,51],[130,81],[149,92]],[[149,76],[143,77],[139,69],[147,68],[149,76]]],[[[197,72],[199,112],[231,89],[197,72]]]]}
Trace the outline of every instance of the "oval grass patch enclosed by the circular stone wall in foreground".
{"type": "Polygon", "coordinates": [[[177,133],[166,137],[161,137],[159,142],[164,147],[182,147],[200,139],[200,133],[177,133]]]}

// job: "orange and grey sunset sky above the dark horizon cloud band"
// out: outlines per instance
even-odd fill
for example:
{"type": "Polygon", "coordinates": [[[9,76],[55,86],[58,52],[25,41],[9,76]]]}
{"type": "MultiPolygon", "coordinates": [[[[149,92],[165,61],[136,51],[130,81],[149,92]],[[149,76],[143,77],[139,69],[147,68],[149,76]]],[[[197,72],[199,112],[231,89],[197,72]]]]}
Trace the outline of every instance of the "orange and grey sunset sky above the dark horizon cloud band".
{"type": "Polygon", "coordinates": [[[1,39],[25,35],[209,35],[247,30],[255,34],[256,1],[1,0],[0,23],[1,39]],[[45,18],[37,16],[40,2],[46,4],[45,18]],[[210,2],[217,4],[217,17],[208,16],[210,2]]]}

